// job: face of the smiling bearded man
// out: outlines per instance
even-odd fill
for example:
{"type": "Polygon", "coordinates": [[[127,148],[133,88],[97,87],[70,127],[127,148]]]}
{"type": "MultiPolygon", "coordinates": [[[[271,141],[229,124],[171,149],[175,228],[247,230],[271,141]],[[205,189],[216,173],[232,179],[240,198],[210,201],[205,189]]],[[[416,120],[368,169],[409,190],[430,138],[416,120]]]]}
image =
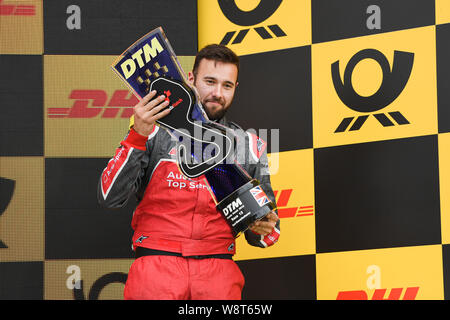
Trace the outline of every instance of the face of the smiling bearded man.
{"type": "Polygon", "coordinates": [[[197,88],[209,119],[221,119],[230,107],[237,86],[237,74],[234,64],[209,59],[200,61],[196,76],[189,72],[188,80],[197,88]]]}

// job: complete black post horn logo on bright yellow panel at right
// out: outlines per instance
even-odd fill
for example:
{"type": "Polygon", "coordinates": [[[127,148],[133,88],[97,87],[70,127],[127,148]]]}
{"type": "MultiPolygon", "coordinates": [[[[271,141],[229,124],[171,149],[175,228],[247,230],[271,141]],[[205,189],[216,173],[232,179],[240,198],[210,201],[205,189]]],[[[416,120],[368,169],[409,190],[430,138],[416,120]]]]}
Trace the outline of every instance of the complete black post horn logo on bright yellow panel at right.
{"type": "Polygon", "coordinates": [[[339,73],[339,60],[331,65],[331,76],[333,85],[341,101],[350,109],[360,112],[369,113],[361,115],[356,118],[344,118],[335,133],[344,132],[353,122],[349,131],[359,130],[370,114],[380,122],[383,127],[394,126],[395,121],[398,125],[409,124],[409,121],[403,116],[400,111],[389,112],[392,120],[386,113],[374,113],[386,106],[390,105],[406,86],[411,75],[412,65],[414,61],[414,53],[404,51],[394,51],[394,61],[391,66],[387,58],[378,50],[364,49],[357,52],[348,62],[344,72],[344,82],[342,82],[339,73]],[[378,88],[378,91],[369,97],[360,96],[353,88],[352,73],[355,66],[364,59],[373,59],[381,67],[383,72],[383,80],[378,88]]]}

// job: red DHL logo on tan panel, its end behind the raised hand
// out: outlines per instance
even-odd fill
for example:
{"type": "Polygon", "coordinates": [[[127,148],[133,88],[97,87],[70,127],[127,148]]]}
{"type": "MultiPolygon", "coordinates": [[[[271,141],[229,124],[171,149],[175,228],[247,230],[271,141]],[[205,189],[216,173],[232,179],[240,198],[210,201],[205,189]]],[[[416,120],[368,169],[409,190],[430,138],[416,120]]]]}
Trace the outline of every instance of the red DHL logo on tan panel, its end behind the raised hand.
{"type": "Polygon", "coordinates": [[[129,118],[138,99],[128,90],[116,90],[108,101],[104,90],[72,90],[69,99],[74,102],[70,108],[48,108],[49,118],[129,118]],[[121,112],[120,112],[121,111],[121,112]]]}

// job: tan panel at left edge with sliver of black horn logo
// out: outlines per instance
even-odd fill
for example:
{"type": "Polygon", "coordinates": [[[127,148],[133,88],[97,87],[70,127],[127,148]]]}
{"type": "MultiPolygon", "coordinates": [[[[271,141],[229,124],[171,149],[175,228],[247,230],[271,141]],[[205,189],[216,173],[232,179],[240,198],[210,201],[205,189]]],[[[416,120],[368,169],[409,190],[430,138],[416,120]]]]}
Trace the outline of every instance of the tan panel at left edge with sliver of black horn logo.
{"type": "Polygon", "coordinates": [[[0,261],[44,259],[44,159],[0,158],[0,261]]]}

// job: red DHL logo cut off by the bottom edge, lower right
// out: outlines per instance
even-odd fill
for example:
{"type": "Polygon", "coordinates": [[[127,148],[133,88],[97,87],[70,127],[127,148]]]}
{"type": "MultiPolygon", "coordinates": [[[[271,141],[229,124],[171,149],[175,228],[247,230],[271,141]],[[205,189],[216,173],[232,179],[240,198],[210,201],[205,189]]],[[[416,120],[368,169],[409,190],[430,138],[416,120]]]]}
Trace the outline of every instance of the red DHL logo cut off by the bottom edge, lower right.
{"type": "MultiPolygon", "coordinates": [[[[400,299],[403,288],[393,288],[389,296],[385,298],[387,289],[375,289],[371,300],[415,300],[419,287],[408,287],[405,290],[403,299],[400,299]]],[[[369,300],[367,292],[364,290],[339,291],[336,300],[369,300]]]]}

